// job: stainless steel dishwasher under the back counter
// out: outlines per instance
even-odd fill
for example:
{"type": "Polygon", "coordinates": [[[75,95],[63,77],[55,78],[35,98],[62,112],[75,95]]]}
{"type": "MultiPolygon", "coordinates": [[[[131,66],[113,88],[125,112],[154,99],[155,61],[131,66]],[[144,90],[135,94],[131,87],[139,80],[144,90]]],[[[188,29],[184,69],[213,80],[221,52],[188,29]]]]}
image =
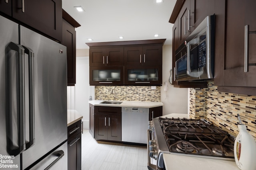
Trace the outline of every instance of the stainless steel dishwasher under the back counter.
{"type": "Polygon", "coordinates": [[[147,144],[149,108],[122,107],[122,142],[147,144]]]}

